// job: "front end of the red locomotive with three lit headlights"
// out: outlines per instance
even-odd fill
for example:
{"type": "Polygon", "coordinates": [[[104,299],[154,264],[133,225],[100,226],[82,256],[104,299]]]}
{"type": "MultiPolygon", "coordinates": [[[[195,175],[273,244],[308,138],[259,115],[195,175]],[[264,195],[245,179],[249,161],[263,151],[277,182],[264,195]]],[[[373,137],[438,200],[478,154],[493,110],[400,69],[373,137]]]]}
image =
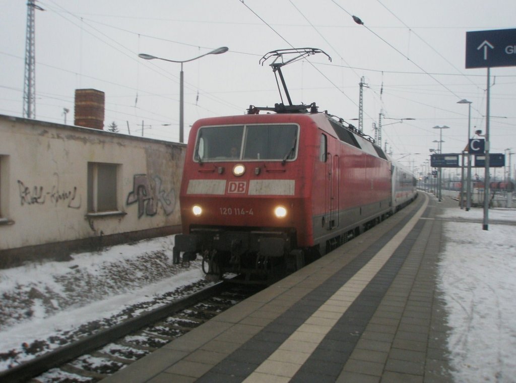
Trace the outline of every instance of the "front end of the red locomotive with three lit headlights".
{"type": "Polygon", "coordinates": [[[288,253],[312,237],[315,129],[301,114],[197,121],[186,151],[176,257],[200,252],[215,274],[283,269],[288,253]]]}

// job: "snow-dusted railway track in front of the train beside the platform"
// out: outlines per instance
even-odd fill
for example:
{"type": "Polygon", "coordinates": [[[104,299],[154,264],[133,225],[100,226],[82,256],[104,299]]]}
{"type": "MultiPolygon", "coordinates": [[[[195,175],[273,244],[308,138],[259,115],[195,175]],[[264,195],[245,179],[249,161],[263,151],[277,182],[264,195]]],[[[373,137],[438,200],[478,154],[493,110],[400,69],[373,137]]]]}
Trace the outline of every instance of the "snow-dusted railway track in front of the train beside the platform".
{"type": "Polygon", "coordinates": [[[260,289],[218,282],[0,372],[0,381],[96,382],[182,336],[260,289]]]}

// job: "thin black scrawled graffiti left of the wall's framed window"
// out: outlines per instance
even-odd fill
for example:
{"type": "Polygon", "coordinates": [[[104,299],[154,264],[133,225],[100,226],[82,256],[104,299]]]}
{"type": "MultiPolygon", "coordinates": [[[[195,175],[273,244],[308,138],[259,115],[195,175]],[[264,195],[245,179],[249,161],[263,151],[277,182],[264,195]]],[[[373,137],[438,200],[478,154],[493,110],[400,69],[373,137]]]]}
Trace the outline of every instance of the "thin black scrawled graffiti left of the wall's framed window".
{"type": "Polygon", "coordinates": [[[57,206],[59,203],[66,203],[70,209],[80,209],[82,198],[77,193],[77,186],[70,190],[61,190],[59,186],[59,174],[54,173],[54,185],[50,188],[44,186],[29,187],[21,180],[18,180],[18,192],[21,205],[43,205],[47,202],[57,206]]]}

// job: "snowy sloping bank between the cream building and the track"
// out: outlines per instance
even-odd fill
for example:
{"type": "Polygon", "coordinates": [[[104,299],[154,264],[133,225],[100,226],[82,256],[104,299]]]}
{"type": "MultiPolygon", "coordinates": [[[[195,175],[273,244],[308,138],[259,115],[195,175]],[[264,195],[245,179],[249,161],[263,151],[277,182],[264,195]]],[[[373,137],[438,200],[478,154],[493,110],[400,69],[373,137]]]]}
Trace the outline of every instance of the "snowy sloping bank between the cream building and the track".
{"type": "Polygon", "coordinates": [[[172,264],[173,244],[171,235],[0,270],[0,371],[206,284],[199,260],[172,264]]]}

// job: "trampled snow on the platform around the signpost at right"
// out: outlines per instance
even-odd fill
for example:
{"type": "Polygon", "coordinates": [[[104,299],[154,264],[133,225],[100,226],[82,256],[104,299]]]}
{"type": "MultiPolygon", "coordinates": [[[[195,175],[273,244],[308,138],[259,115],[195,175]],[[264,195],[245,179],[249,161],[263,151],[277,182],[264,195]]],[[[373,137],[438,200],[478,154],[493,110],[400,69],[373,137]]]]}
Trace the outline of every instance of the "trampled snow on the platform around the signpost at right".
{"type": "Polygon", "coordinates": [[[516,382],[516,210],[446,209],[439,265],[456,382],[516,382]],[[493,221],[506,224],[495,224],[493,221]]]}

